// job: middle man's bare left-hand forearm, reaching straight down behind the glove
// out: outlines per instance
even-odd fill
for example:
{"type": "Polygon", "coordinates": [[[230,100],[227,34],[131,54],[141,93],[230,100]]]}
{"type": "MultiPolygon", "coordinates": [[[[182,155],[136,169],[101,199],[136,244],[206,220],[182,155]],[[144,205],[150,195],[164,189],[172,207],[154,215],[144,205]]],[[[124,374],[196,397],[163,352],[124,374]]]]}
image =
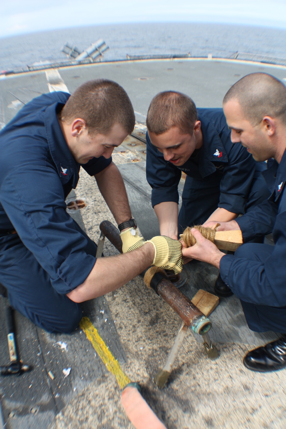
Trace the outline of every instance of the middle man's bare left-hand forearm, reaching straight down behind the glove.
{"type": "Polygon", "coordinates": [[[178,239],[178,204],[173,201],[160,202],[154,205],[160,224],[161,236],[178,239]]]}

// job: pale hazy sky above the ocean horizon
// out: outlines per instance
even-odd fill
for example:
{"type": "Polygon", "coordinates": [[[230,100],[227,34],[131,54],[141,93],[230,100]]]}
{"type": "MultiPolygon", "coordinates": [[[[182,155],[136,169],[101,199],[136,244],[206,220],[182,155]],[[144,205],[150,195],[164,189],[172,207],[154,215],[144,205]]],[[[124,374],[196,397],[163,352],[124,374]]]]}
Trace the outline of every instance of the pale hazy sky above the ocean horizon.
{"type": "Polygon", "coordinates": [[[2,0],[0,17],[0,37],[135,22],[212,22],[286,29],[286,0],[2,0]]]}

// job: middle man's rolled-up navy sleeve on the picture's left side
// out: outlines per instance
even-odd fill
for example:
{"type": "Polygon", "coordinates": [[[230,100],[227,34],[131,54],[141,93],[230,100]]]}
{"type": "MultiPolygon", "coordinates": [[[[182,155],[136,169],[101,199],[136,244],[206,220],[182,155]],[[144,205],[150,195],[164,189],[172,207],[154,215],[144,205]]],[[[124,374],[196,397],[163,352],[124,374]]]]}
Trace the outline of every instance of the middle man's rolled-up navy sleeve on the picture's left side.
{"type": "Polygon", "coordinates": [[[174,201],[178,204],[181,170],[164,160],[163,154],[152,145],[148,133],[146,133],[146,145],[146,178],[152,187],[152,207],[166,201],[174,201]]]}

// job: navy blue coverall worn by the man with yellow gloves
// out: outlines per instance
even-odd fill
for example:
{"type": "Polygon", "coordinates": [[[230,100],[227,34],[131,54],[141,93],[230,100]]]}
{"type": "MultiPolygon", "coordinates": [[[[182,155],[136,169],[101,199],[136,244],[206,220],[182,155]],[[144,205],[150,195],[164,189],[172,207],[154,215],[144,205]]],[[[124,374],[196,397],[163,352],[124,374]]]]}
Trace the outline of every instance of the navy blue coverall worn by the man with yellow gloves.
{"type": "MultiPolygon", "coordinates": [[[[57,120],[68,98],[43,94],[0,133],[0,282],[12,307],[34,323],[71,332],[82,314],[66,293],[87,278],[96,245],[66,212],[80,169],[57,120]]],[[[110,163],[93,158],[83,168],[95,175],[110,163]]]]}

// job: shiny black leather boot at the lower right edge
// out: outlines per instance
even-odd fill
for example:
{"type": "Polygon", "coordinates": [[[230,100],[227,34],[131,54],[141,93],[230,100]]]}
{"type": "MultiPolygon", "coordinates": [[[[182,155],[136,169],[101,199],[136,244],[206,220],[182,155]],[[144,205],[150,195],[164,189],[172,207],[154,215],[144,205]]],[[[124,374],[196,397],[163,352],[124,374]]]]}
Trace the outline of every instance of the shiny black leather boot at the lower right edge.
{"type": "Polygon", "coordinates": [[[251,371],[270,372],[286,367],[286,335],[244,356],[244,366],[251,371]]]}

